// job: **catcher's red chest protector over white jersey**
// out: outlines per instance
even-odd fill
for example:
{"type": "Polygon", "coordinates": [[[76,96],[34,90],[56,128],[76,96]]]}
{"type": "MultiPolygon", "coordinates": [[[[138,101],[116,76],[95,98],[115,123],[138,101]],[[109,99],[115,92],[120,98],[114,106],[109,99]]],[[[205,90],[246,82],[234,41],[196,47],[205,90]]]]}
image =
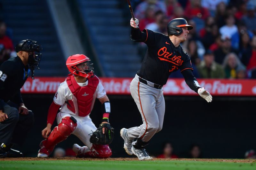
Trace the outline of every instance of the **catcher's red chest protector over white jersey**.
{"type": "Polygon", "coordinates": [[[88,78],[88,85],[84,87],[77,84],[73,75],[67,77],[66,81],[70,91],[73,94],[73,99],[68,100],[68,109],[81,117],[90,114],[96,98],[94,93],[99,84],[99,78],[96,76],[93,78],[88,78]]]}

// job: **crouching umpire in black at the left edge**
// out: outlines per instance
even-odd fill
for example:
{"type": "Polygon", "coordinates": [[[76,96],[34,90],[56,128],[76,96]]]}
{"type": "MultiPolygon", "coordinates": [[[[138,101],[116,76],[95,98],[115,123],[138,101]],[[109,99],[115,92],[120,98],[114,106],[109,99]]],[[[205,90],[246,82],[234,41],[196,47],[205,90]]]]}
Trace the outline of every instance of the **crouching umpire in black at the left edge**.
{"type": "Polygon", "coordinates": [[[39,68],[42,46],[36,41],[20,41],[11,57],[0,66],[0,158],[22,157],[19,151],[11,149],[13,144],[22,145],[24,135],[34,124],[34,114],[25,107],[20,94],[31,72],[39,68]]]}

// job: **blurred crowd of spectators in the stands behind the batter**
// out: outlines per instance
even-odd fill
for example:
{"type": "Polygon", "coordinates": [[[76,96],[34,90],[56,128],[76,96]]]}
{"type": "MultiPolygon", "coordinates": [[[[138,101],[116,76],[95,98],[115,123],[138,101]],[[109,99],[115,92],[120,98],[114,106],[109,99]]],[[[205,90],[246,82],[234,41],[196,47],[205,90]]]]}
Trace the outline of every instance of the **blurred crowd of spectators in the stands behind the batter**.
{"type": "MultiPolygon", "coordinates": [[[[181,44],[197,78],[256,78],[256,1],[133,0],[140,30],[167,34],[173,18],[185,18],[194,29],[181,44]]],[[[138,45],[144,57],[147,46],[138,45]]],[[[170,77],[179,78],[177,71],[170,77]]]]}

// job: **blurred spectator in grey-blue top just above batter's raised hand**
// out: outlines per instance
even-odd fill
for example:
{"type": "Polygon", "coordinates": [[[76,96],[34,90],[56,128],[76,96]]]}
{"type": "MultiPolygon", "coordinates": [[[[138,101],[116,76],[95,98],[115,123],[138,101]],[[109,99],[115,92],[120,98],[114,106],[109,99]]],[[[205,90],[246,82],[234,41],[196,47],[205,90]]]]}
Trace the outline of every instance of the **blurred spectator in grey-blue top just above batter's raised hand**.
{"type": "Polygon", "coordinates": [[[142,18],[145,18],[145,11],[148,8],[149,5],[154,6],[154,12],[161,10],[164,13],[166,13],[166,6],[164,2],[157,1],[157,0],[145,0],[137,5],[137,7],[134,10],[134,15],[136,18],[138,18],[140,21],[142,18]]]}

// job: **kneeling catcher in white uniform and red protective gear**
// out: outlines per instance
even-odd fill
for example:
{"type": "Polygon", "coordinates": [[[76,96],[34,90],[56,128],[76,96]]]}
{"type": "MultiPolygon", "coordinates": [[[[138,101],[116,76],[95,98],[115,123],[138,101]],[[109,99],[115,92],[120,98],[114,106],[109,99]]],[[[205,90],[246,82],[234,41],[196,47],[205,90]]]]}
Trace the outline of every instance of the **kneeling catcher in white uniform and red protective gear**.
{"type": "Polygon", "coordinates": [[[77,157],[108,158],[112,155],[108,146],[114,137],[114,129],[108,121],[110,102],[99,78],[94,75],[90,61],[82,54],[68,57],[66,65],[71,74],[59,85],[49,108],[47,126],[42,130],[45,139],[40,143],[38,158],[49,157],[55,145],[70,134],[76,135],[85,144],[82,147],[73,145],[77,157]],[[89,116],[96,98],[102,104],[103,113],[98,129],[89,116]],[[56,114],[58,126],[51,132],[56,114]]]}

